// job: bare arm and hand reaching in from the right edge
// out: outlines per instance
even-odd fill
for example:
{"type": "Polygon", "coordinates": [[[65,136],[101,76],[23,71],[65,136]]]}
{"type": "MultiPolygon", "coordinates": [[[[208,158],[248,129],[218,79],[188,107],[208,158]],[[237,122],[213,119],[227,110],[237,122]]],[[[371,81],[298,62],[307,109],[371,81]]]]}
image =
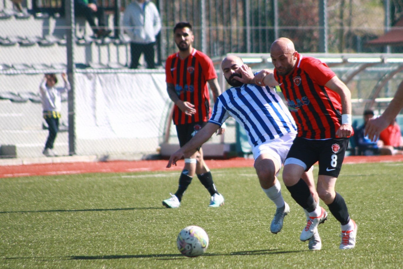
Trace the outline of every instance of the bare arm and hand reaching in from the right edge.
{"type": "Polygon", "coordinates": [[[395,93],[395,97],[393,97],[391,103],[389,103],[388,107],[385,111],[377,117],[376,119],[370,119],[365,125],[364,136],[368,136],[372,142],[375,142],[379,138],[379,134],[386,127],[388,127],[389,123],[395,119],[397,114],[403,108],[403,81],[397,87],[397,91],[395,93]]]}

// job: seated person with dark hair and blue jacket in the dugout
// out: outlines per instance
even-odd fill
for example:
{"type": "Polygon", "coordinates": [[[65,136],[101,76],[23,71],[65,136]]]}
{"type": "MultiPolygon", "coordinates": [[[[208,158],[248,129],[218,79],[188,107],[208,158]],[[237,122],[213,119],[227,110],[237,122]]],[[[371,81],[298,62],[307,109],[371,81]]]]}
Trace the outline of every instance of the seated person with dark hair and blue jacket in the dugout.
{"type": "Polygon", "coordinates": [[[378,141],[372,142],[368,136],[364,136],[364,129],[366,123],[374,117],[374,111],[366,110],[364,111],[364,125],[360,126],[357,131],[355,131],[354,137],[355,142],[358,147],[358,155],[372,156],[378,155],[380,149],[378,147],[378,141]]]}

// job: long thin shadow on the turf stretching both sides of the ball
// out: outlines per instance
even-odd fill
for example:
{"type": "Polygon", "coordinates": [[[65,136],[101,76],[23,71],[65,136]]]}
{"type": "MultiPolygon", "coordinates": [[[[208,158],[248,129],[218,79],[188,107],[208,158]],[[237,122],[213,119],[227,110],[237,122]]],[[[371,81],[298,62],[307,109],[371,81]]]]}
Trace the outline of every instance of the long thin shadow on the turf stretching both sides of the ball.
{"type": "MultiPolygon", "coordinates": [[[[280,249],[262,249],[255,251],[237,251],[231,253],[205,253],[203,254],[203,256],[273,255],[273,254],[297,253],[305,251],[280,251],[280,249]]],[[[71,260],[102,260],[102,259],[133,259],[133,258],[188,259],[188,257],[185,257],[182,254],[71,256],[68,258],[70,258],[71,260]]]]}

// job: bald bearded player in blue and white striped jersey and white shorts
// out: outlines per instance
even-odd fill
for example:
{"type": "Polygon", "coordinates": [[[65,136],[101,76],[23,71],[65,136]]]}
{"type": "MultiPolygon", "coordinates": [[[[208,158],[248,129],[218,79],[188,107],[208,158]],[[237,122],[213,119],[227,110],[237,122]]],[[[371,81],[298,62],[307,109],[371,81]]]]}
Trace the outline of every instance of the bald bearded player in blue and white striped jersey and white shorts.
{"type": "MultiPolygon", "coordinates": [[[[283,228],[284,217],[289,214],[289,205],[281,194],[281,185],[277,180],[281,165],[297,134],[296,126],[287,107],[276,93],[274,87],[262,87],[256,84],[243,84],[235,76],[253,76],[251,69],[243,64],[240,57],[227,56],[221,64],[226,81],[233,86],[224,91],[214,105],[212,117],[198,133],[177,152],[170,156],[168,165],[176,162],[184,154],[192,154],[206,142],[229,117],[242,125],[252,147],[255,169],[260,186],[276,205],[276,213],[270,224],[274,234],[283,228]]],[[[303,175],[313,196],[318,201],[312,171],[303,175]]],[[[316,233],[309,242],[310,249],[320,249],[321,241],[316,233]]]]}

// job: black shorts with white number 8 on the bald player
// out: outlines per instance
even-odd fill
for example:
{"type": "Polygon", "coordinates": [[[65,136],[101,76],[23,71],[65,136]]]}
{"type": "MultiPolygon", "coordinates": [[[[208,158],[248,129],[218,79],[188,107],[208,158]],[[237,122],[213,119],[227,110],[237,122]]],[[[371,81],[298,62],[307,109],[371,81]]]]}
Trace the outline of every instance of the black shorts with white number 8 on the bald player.
{"type": "Polygon", "coordinates": [[[318,175],[339,177],[348,145],[348,138],[309,140],[297,137],[287,154],[287,158],[301,160],[306,165],[305,171],[319,162],[318,175]]]}

